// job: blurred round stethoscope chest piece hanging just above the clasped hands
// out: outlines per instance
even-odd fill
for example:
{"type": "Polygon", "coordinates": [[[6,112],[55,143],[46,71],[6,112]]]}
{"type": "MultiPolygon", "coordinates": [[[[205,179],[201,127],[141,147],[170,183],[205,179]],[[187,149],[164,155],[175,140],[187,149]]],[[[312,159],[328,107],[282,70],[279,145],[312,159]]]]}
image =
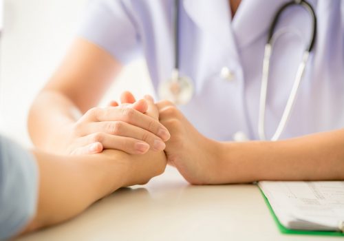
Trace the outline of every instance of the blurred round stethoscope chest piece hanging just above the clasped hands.
{"type": "Polygon", "coordinates": [[[185,105],[193,96],[193,83],[189,77],[180,76],[177,70],[173,70],[171,78],[160,83],[158,92],[164,100],[176,105],[185,105]]]}

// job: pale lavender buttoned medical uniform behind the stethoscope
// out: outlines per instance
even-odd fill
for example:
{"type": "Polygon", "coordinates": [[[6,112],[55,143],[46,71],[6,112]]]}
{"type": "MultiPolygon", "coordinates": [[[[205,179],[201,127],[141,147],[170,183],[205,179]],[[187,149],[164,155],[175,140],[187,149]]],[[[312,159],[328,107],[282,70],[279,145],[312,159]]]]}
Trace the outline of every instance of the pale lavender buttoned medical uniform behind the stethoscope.
{"type": "MultiPolygon", "coordinates": [[[[228,0],[180,1],[180,71],[195,85],[180,107],[205,136],[233,140],[238,132],[257,139],[264,45],[270,23],[285,0],[244,0],[231,17],[228,0]],[[222,71],[223,70],[223,71],[222,71]],[[222,72],[222,74],[221,74],[222,72]]],[[[310,0],[318,29],[290,120],[281,138],[344,127],[344,1],[310,0]]],[[[155,90],[173,69],[173,0],[95,0],[79,35],[122,63],[144,56],[155,90]]],[[[272,54],[266,103],[266,135],[275,132],[312,19],[288,8],[272,54]]]]}

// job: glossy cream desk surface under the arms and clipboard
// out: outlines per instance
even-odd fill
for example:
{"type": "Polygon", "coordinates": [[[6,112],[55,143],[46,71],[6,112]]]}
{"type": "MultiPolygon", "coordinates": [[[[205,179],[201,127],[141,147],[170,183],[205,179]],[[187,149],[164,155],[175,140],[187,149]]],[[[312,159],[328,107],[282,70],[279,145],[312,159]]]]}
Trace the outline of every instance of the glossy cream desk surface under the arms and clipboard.
{"type": "MultiPolygon", "coordinates": [[[[18,240],[339,240],[283,235],[255,185],[188,185],[171,167],[80,216],[18,240]]],[[[341,238],[343,240],[343,238],[341,238]]]]}

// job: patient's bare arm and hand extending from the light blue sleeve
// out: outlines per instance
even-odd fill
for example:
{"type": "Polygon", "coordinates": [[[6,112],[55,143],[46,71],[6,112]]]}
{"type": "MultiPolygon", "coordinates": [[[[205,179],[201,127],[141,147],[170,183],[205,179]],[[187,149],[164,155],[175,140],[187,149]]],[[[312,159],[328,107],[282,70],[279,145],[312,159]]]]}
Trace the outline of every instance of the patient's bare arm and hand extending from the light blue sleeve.
{"type": "Polygon", "coordinates": [[[56,156],[34,151],[39,166],[36,215],[25,232],[72,218],[120,187],[144,184],[162,174],[164,152],[130,155],[105,150],[88,156],[56,156]]]}

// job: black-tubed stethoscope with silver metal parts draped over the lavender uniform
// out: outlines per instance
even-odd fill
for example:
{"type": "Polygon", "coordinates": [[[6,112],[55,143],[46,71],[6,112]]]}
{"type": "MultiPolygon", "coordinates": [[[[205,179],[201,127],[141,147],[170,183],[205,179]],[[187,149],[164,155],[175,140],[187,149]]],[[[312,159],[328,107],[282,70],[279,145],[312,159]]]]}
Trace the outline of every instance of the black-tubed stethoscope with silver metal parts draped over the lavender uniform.
{"type": "MultiPolygon", "coordinates": [[[[174,36],[174,68],[171,74],[171,78],[169,80],[160,83],[158,94],[160,98],[167,99],[172,101],[177,105],[185,105],[189,103],[193,96],[193,83],[191,78],[188,76],[183,76],[180,74],[180,65],[179,65],[179,0],[174,1],[174,13],[173,13],[173,36],[174,36]]],[[[292,90],[290,91],[290,95],[288,101],[286,103],[286,107],[283,110],[283,114],[281,120],[279,121],[279,125],[277,126],[275,134],[273,134],[270,140],[278,140],[281,136],[284,128],[286,127],[286,123],[288,122],[288,118],[290,117],[290,112],[292,111],[292,107],[295,102],[295,98],[297,96],[297,92],[299,90],[299,85],[301,83],[301,79],[303,77],[303,73],[305,71],[305,66],[308,62],[308,56],[312,51],[314,46],[314,42],[316,39],[316,14],[314,9],[305,0],[293,0],[285,3],[272,20],[270,25],[270,30],[268,34],[268,41],[265,45],[264,50],[264,61],[263,61],[263,71],[261,77],[261,91],[260,91],[260,98],[259,98],[259,115],[258,115],[258,134],[261,140],[266,140],[266,132],[265,132],[265,112],[266,112],[266,96],[268,90],[268,78],[269,78],[269,68],[270,68],[270,57],[272,54],[272,46],[273,43],[277,38],[274,36],[275,28],[277,26],[277,22],[281,13],[286,10],[289,6],[298,5],[302,6],[307,10],[311,17],[312,17],[312,39],[310,39],[310,43],[306,48],[305,52],[303,52],[303,57],[299,67],[297,69],[297,74],[292,85],[292,90]]]]}

